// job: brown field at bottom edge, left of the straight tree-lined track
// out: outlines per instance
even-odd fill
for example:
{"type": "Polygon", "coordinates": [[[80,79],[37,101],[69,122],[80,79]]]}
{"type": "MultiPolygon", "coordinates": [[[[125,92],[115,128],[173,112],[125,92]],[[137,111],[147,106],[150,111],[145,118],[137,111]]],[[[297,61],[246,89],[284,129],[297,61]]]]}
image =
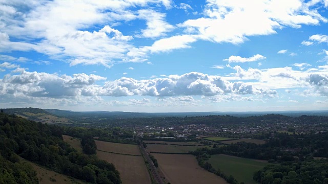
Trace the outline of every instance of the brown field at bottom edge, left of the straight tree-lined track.
{"type": "Polygon", "coordinates": [[[120,173],[122,184],[147,184],[151,183],[149,173],[142,156],[121,155],[97,151],[99,159],[113,163],[120,173]]]}

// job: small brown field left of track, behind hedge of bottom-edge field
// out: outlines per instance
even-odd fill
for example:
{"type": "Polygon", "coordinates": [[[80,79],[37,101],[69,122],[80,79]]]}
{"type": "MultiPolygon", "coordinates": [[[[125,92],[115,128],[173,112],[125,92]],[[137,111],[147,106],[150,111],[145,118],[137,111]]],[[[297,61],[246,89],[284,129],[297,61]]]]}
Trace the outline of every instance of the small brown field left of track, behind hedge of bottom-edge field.
{"type": "Polygon", "coordinates": [[[101,151],[120,153],[120,154],[141,155],[137,145],[110,143],[110,142],[97,141],[97,140],[95,140],[95,142],[97,145],[97,149],[101,151]]]}

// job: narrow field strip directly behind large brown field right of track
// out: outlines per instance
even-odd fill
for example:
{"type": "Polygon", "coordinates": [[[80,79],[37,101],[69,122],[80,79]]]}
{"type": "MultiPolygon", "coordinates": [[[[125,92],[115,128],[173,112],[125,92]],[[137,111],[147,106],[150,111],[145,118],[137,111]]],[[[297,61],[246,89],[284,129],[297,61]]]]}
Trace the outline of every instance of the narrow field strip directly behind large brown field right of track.
{"type": "Polygon", "coordinates": [[[155,145],[148,144],[147,151],[150,152],[163,152],[163,153],[188,153],[189,151],[195,151],[197,148],[203,148],[207,146],[176,146],[176,145],[155,145]]]}

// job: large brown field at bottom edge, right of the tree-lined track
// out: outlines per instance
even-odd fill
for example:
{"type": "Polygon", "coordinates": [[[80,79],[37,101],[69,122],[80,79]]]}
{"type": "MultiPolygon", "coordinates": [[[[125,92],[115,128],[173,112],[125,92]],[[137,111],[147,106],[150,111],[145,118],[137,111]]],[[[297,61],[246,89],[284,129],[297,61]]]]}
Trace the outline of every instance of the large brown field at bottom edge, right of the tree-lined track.
{"type": "Polygon", "coordinates": [[[174,184],[226,184],[223,178],[202,169],[192,155],[153,153],[166,182],[174,184]]]}

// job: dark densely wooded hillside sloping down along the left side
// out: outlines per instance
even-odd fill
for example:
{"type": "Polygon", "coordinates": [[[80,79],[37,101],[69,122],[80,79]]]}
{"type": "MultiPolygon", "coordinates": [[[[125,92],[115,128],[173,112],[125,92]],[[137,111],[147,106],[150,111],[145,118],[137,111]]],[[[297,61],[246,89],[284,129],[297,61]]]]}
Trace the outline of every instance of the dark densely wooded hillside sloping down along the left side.
{"type": "MultiPolygon", "coordinates": [[[[19,155],[33,163],[77,179],[92,183],[121,183],[119,172],[113,164],[99,160],[96,156],[76,152],[63,141],[63,133],[64,128],[60,126],[36,123],[0,113],[0,152],[2,158],[8,160],[4,163],[8,165],[8,162],[11,162],[14,167],[19,168],[19,164],[15,165],[15,157],[19,155]]],[[[89,143],[87,139],[85,145],[89,143]]],[[[26,168],[26,172],[30,171],[27,165],[21,167],[26,168]]],[[[0,175],[8,175],[10,178],[9,169],[2,168],[0,175]]],[[[20,175],[15,175],[14,171],[11,173],[17,177],[16,181],[19,181],[14,183],[33,183],[32,172],[20,175]]]]}

